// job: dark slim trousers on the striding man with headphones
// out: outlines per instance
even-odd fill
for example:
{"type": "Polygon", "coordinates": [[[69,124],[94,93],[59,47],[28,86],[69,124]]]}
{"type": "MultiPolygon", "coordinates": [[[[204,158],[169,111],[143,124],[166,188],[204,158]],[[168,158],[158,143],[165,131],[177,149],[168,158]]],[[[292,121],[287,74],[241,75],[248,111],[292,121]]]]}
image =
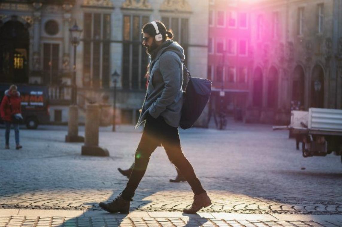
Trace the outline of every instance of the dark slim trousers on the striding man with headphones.
{"type": "Polygon", "coordinates": [[[133,198],[134,191],[146,172],[150,156],[160,144],[165,148],[169,160],[181,172],[193,192],[196,195],[205,192],[192,165],[182,152],[178,128],[168,125],[161,116],[154,119],[148,115],[140,143],[135,152],[133,171],[121,194],[123,199],[131,200],[133,198]]]}

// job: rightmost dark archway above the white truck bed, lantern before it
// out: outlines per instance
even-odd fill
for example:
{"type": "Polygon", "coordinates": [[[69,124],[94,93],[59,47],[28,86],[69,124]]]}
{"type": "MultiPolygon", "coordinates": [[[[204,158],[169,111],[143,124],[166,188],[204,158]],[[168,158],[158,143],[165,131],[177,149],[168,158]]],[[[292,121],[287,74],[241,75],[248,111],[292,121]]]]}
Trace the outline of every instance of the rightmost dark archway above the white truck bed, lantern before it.
{"type": "Polygon", "coordinates": [[[324,70],[320,65],[312,70],[311,107],[324,108],[324,70]]]}

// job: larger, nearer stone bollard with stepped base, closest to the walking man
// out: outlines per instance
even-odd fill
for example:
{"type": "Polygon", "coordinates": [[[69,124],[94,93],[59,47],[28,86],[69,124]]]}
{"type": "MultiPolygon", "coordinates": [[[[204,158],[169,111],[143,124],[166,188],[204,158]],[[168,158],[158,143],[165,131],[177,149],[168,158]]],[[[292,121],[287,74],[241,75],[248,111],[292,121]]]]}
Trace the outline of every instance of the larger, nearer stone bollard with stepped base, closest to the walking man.
{"type": "Polygon", "coordinates": [[[86,128],[84,132],[84,146],[82,155],[109,156],[106,148],[98,146],[98,127],[100,124],[100,107],[97,104],[87,105],[86,128]]]}

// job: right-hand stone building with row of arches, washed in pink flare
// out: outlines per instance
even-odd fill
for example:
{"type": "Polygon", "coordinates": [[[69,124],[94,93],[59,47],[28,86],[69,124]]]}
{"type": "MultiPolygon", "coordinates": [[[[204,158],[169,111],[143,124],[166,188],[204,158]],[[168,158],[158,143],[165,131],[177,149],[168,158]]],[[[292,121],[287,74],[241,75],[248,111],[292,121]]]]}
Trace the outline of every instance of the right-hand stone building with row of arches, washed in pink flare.
{"type": "Polygon", "coordinates": [[[291,101],[342,108],[342,1],[261,0],[251,7],[247,122],[285,123],[291,101]]]}

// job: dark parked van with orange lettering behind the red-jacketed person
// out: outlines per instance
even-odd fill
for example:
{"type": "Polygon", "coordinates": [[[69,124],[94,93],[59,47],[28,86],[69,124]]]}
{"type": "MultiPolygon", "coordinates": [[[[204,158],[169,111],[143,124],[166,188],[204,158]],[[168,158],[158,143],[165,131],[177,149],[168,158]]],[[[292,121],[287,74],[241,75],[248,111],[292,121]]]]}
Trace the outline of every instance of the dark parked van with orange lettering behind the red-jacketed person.
{"type": "MultiPolygon", "coordinates": [[[[11,84],[0,84],[2,101],[5,91],[11,84]]],[[[21,108],[24,123],[28,129],[37,129],[39,124],[50,122],[49,89],[47,86],[15,84],[21,97],[21,108]]]]}

